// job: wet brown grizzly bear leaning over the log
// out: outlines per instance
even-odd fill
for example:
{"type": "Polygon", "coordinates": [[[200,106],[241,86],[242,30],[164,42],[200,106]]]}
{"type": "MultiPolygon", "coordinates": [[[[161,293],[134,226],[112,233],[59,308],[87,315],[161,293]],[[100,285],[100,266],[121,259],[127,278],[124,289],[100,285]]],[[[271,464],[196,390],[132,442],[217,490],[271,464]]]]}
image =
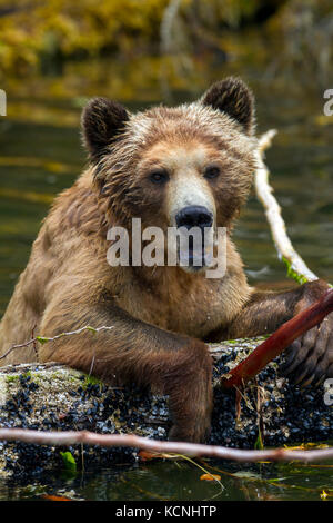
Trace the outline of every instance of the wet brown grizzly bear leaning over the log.
{"type": "MultiPolygon", "coordinates": [[[[251,287],[232,243],[234,219],[255,169],[253,96],[240,79],[214,83],[198,101],[135,115],[105,98],[82,114],[90,164],[56,200],[0,327],[0,352],[34,333],[40,362],[60,362],[112,383],[169,395],[169,437],[199,442],[210,430],[212,361],[205,342],[275,330],[327,289],[322,280],[283,293],[251,287]],[[223,276],[202,266],[111,266],[108,230],[226,229],[223,276]]],[[[189,250],[191,254],[191,249],[189,250]]],[[[131,253],[130,253],[131,258],[131,253]]],[[[204,258],[204,256],[203,256],[204,258]]],[[[333,316],[290,347],[284,374],[316,385],[333,376],[333,316]]],[[[30,344],[2,364],[36,361],[30,344]]]]}

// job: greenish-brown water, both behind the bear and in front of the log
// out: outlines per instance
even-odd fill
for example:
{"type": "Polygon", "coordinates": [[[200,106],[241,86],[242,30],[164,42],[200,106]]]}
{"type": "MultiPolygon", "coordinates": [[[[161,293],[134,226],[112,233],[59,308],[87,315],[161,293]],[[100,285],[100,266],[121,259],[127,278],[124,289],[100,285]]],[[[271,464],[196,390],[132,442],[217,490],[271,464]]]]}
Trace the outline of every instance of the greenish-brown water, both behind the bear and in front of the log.
{"type": "MultiPolygon", "coordinates": [[[[194,99],[211,81],[238,73],[258,99],[258,131],[276,127],[266,154],[271,182],[283,207],[290,237],[320,277],[333,282],[333,117],[323,117],[323,98],[292,80],[265,80],[262,63],[246,53],[233,62],[195,59],[192,70],[167,73],[158,58],[127,63],[97,60],[72,63],[62,77],[8,80],[8,117],[0,119],[0,316],[54,195],[69,187],[85,164],[79,135],[81,106],[90,96],[122,100],[132,110],[168,98],[194,99]],[[193,69],[194,68],[194,69],[193,69]],[[196,75],[195,75],[196,68],[196,75]]],[[[309,86],[307,86],[309,87],[309,86]]],[[[279,286],[286,280],[261,205],[250,197],[235,231],[251,283],[279,286]]],[[[0,478],[0,500],[41,499],[44,494],[88,500],[319,500],[333,491],[332,463],[321,465],[235,465],[210,468],[221,484],[201,481],[198,465],[153,461],[134,467],[89,470],[77,476],[54,471],[39,478],[0,478]]]]}

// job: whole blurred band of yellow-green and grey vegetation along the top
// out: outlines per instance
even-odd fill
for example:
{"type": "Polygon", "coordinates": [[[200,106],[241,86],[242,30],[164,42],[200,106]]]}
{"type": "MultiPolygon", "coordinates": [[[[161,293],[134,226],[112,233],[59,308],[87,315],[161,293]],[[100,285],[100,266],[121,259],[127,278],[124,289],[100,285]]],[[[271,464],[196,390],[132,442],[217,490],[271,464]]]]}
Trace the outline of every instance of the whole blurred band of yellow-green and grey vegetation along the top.
{"type": "Polygon", "coordinates": [[[214,51],[229,60],[229,37],[254,27],[265,37],[262,53],[279,39],[271,73],[301,63],[315,81],[329,80],[330,0],[0,0],[0,75],[3,82],[8,75],[54,73],[68,59],[105,53],[191,59],[214,51]]]}

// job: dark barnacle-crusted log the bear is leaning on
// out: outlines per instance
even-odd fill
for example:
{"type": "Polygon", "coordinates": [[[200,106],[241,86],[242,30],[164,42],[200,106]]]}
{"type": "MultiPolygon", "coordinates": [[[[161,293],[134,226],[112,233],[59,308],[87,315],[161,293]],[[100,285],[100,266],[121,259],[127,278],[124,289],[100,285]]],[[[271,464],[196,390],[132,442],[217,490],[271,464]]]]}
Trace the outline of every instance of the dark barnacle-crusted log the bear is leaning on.
{"type": "MultiPolygon", "coordinates": [[[[239,448],[320,442],[333,434],[333,409],[323,386],[300,389],[279,376],[276,358],[250,382],[239,398],[220,386],[226,374],[263,338],[211,344],[214,358],[214,411],[210,442],[239,448]]],[[[57,363],[9,365],[0,368],[0,427],[40,431],[89,430],[102,434],[135,433],[167,440],[168,398],[133,387],[112,387],[57,363]]],[[[0,443],[0,474],[38,473],[62,464],[61,451],[78,465],[133,463],[134,448],[70,448],[26,443],[0,443]]]]}

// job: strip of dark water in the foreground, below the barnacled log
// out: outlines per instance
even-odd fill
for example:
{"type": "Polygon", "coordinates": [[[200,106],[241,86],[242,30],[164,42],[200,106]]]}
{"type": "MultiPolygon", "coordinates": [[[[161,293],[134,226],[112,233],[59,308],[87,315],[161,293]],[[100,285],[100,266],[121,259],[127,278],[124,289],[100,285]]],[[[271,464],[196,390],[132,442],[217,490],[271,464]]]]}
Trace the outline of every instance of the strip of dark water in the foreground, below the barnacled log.
{"type": "MultiPolygon", "coordinates": [[[[138,466],[84,471],[77,476],[48,473],[30,480],[0,480],[1,500],[51,500],[51,496],[89,501],[319,501],[332,500],[332,463],[210,464],[200,467],[220,476],[204,481],[198,465],[182,460],[138,466]],[[330,491],[331,490],[331,491],[330,491]]],[[[57,500],[56,500],[57,501],[57,500]]]]}

